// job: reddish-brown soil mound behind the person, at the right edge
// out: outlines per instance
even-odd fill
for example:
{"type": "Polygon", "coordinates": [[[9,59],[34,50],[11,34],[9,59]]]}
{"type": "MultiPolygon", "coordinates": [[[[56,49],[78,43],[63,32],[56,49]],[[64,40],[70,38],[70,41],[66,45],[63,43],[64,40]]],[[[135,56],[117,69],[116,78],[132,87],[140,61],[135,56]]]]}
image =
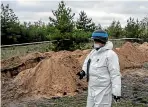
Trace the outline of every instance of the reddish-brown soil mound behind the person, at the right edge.
{"type": "Polygon", "coordinates": [[[140,51],[130,42],[125,43],[120,49],[115,49],[114,51],[119,56],[121,70],[139,68],[142,67],[144,62],[148,62],[147,54],[140,51]]]}

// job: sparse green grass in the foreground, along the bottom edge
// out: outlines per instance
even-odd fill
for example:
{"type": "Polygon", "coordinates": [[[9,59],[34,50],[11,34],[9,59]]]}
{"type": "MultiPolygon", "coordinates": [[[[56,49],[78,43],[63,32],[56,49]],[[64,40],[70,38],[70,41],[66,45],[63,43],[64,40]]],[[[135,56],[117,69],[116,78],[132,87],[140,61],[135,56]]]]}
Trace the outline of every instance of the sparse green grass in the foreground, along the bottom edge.
{"type": "MultiPolygon", "coordinates": [[[[86,107],[87,92],[78,94],[74,97],[62,97],[57,99],[42,98],[38,101],[30,101],[25,107],[86,107]]],[[[20,106],[21,107],[21,106],[20,106]]],[[[136,104],[131,100],[121,100],[117,104],[113,103],[112,107],[146,107],[145,104],[136,104]]]]}

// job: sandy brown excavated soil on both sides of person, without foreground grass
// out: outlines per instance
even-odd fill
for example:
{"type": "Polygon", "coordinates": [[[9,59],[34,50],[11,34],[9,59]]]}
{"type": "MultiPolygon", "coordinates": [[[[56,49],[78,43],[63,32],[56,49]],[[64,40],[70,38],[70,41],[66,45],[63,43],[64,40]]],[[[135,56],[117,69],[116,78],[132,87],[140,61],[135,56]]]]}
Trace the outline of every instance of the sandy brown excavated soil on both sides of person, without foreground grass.
{"type": "MultiPolygon", "coordinates": [[[[146,43],[134,46],[127,42],[114,51],[119,56],[123,75],[128,75],[129,69],[134,73],[135,69],[142,68],[148,62],[146,43]]],[[[90,50],[32,53],[3,60],[2,103],[24,98],[73,96],[86,90],[86,80],[80,81],[76,73],[81,70],[89,52],[90,50]]],[[[141,72],[136,75],[146,76],[141,72]]]]}

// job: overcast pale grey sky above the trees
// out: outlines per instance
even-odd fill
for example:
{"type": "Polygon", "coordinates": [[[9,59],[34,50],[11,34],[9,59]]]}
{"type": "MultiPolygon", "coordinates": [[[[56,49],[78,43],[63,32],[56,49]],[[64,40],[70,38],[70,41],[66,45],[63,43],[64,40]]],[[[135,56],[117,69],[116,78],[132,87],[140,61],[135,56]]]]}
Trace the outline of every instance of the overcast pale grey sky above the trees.
{"type": "MultiPolygon", "coordinates": [[[[2,0],[4,4],[9,4],[15,14],[23,21],[49,21],[49,16],[52,15],[52,10],[58,8],[57,0],[2,0]]],[[[65,1],[67,7],[72,8],[75,20],[79,16],[79,12],[84,10],[89,18],[103,27],[110,25],[113,20],[119,20],[124,26],[129,17],[142,19],[148,16],[148,1],[65,1]]]]}

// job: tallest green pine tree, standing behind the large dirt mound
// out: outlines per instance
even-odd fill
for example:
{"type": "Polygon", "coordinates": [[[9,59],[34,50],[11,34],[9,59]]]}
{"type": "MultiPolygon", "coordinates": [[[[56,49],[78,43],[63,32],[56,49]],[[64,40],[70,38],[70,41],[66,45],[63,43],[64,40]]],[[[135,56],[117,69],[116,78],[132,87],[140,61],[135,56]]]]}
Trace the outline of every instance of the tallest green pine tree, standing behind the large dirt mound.
{"type": "Polygon", "coordinates": [[[49,17],[49,25],[55,27],[52,39],[59,40],[55,43],[55,50],[69,50],[73,46],[72,32],[74,30],[74,13],[71,8],[67,8],[64,1],[59,3],[58,9],[52,11],[55,18],[49,17]],[[70,40],[65,40],[70,39],[70,40]]]}

